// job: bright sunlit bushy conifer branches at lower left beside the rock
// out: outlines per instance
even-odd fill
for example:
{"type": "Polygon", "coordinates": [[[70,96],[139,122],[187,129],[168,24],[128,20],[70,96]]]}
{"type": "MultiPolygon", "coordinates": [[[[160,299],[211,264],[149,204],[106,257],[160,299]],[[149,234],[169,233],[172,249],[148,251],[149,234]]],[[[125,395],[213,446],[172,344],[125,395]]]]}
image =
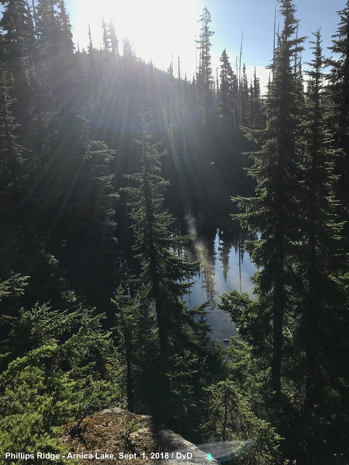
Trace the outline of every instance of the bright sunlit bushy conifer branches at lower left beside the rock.
{"type": "MultiPolygon", "coordinates": [[[[26,278],[0,283],[4,300],[26,292],[26,278]]],[[[76,297],[73,296],[76,300],[76,297]]],[[[21,308],[12,321],[0,373],[0,449],[63,451],[62,425],[119,401],[118,368],[100,316],[48,304],[21,308]]]]}

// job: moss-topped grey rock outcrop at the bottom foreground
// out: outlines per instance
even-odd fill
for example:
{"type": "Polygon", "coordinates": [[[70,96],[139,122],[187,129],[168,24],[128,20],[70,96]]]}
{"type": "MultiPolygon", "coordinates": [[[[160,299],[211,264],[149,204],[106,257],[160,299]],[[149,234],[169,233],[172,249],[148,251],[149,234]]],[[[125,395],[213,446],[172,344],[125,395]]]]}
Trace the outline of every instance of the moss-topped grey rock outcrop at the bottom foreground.
{"type": "Polygon", "coordinates": [[[218,462],[147,415],[110,408],[67,427],[64,459],[94,465],[194,465],[218,462]]]}

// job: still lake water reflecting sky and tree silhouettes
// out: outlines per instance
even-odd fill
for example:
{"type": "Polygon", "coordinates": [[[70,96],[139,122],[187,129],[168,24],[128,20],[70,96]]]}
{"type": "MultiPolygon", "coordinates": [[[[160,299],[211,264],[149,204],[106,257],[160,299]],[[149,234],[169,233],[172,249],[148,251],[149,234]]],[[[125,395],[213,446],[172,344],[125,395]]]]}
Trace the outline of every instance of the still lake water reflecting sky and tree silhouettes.
{"type": "MultiPolygon", "coordinates": [[[[185,214],[183,209],[173,211],[173,216],[177,218],[173,234],[191,235],[192,239],[185,247],[183,255],[190,261],[201,262],[201,272],[193,279],[196,282],[192,293],[185,300],[190,307],[210,302],[206,310],[207,323],[212,329],[211,337],[227,344],[224,339],[236,334],[236,329],[229,315],[217,308],[217,303],[224,292],[234,289],[248,292],[252,297],[253,283],[250,277],[256,269],[250,262],[249,255],[242,251],[244,240],[248,237],[241,230],[239,222],[231,219],[232,202],[229,200],[228,205],[220,210],[222,201],[212,203],[208,205],[202,202],[201,208],[188,208],[185,214]]],[[[130,253],[133,237],[128,226],[129,222],[125,219],[118,238],[131,274],[137,275],[140,272],[139,262],[130,253]]]]}

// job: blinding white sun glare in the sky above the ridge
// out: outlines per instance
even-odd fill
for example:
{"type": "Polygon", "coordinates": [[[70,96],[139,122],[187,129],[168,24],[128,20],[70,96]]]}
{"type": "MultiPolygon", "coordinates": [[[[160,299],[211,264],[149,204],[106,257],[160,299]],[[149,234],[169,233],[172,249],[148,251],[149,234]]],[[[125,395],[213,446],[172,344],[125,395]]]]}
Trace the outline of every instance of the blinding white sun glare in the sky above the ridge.
{"type": "MultiPolygon", "coordinates": [[[[167,68],[179,56],[184,69],[195,63],[195,34],[200,15],[199,0],[79,0],[81,4],[77,30],[90,23],[94,46],[101,41],[101,18],[108,23],[113,20],[122,50],[122,39],[129,37],[134,43],[137,56],[146,61],[152,59],[159,68],[167,68]]],[[[74,31],[73,31],[74,32],[74,31]]],[[[81,39],[86,43],[87,33],[81,39]]],[[[79,39],[80,41],[80,39],[79,39]]],[[[176,67],[177,68],[177,67],[176,67]]],[[[176,69],[175,68],[175,69],[176,69]]]]}

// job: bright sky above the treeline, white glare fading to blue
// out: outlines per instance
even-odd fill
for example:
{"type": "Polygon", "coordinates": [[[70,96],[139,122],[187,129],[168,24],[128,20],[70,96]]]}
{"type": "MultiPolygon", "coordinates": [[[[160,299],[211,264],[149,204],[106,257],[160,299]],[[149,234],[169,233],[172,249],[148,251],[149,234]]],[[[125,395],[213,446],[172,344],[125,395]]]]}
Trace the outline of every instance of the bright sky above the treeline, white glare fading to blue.
{"type": "MultiPolygon", "coordinates": [[[[330,45],[331,35],[338,23],[336,12],[345,6],[345,0],[299,0],[296,17],[300,19],[300,35],[321,27],[323,46],[330,45]]],[[[73,34],[80,48],[87,45],[87,24],[90,22],[94,45],[101,41],[101,17],[113,18],[116,33],[121,40],[128,34],[134,40],[137,55],[150,58],[156,66],[166,69],[171,61],[181,57],[183,71],[189,76],[195,71],[195,35],[199,35],[199,15],[206,6],[211,13],[213,68],[219,66],[224,48],[232,64],[239,54],[243,31],[243,62],[251,75],[253,67],[261,81],[267,80],[264,67],[272,57],[275,0],[129,0],[125,6],[116,0],[66,0],[73,25],[73,34]]],[[[282,20],[277,15],[277,23],[282,20]]],[[[308,39],[310,40],[310,39],[308,39]]],[[[305,44],[306,49],[309,45],[305,44]]],[[[327,52],[326,52],[327,53],[327,52]]],[[[329,53],[329,52],[328,52],[329,53]]],[[[303,53],[310,59],[309,50],[303,53]]],[[[176,69],[176,68],[175,68],[176,69]]]]}

